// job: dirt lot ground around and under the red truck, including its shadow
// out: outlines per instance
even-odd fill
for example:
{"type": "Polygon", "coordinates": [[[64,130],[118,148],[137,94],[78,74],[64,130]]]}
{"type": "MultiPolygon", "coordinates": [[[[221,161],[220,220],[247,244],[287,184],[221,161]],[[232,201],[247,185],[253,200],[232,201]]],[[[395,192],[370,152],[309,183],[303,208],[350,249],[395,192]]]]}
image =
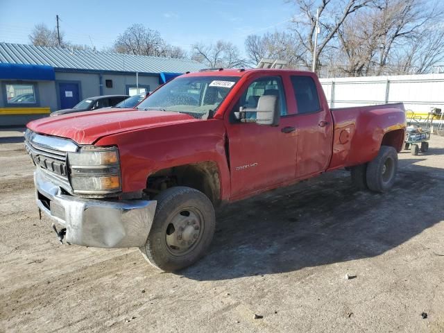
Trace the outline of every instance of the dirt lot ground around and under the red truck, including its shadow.
{"type": "Polygon", "coordinates": [[[236,203],[172,274],[134,248],[58,244],[22,133],[1,130],[0,331],[444,332],[443,155],[443,137],[402,151],[388,194],[337,171],[236,203]]]}

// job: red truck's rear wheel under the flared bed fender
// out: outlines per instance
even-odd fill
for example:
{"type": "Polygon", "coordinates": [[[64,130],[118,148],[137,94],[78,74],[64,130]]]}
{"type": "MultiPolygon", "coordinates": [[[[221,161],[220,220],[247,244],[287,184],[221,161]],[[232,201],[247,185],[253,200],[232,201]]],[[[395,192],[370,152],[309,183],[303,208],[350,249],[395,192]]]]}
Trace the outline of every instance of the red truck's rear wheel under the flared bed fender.
{"type": "Polygon", "coordinates": [[[398,170],[398,153],[391,146],[381,146],[377,157],[367,165],[367,185],[375,192],[386,192],[393,186],[398,170]]]}

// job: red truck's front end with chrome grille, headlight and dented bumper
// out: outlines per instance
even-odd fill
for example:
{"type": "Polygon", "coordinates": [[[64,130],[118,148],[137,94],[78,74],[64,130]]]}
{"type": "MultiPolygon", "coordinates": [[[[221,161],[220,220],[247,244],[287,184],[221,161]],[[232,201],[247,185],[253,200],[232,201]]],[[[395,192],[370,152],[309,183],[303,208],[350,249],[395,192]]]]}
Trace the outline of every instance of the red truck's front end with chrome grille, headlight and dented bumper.
{"type": "Polygon", "coordinates": [[[25,146],[36,166],[37,206],[66,228],[67,243],[99,248],[145,244],[156,202],[121,200],[117,147],[79,146],[31,130],[26,130],[25,146]]]}

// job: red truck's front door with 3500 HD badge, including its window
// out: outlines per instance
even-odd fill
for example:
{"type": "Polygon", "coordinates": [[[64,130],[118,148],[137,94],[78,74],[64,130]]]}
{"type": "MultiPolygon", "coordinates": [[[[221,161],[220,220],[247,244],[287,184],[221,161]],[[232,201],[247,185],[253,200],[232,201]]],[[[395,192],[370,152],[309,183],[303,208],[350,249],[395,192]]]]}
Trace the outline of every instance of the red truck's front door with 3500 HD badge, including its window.
{"type": "Polygon", "coordinates": [[[296,117],[289,116],[287,112],[282,78],[262,76],[252,80],[234,106],[230,114],[230,124],[227,126],[233,199],[295,177],[298,134],[296,117]],[[278,96],[280,101],[279,126],[241,123],[232,117],[239,106],[256,108],[260,96],[267,94],[278,96]]]}

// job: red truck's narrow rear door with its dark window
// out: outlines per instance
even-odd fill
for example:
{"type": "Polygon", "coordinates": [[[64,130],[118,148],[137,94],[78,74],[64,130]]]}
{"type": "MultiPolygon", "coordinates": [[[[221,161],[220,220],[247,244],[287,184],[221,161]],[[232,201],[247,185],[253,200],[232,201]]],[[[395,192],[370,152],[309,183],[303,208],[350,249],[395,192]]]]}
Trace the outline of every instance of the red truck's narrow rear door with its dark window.
{"type": "Polygon", "coordinates": [[[290,76],[293,99],[296,99],[298,126],[298,157],[296,178],[325,171],[332,157],[332,114],[311,76],[290,76]]]}

